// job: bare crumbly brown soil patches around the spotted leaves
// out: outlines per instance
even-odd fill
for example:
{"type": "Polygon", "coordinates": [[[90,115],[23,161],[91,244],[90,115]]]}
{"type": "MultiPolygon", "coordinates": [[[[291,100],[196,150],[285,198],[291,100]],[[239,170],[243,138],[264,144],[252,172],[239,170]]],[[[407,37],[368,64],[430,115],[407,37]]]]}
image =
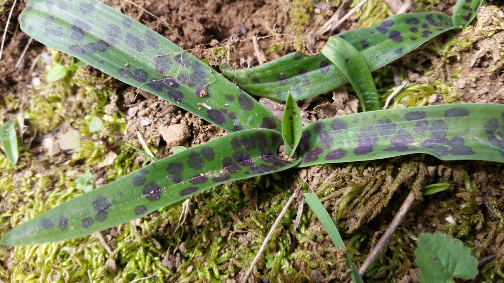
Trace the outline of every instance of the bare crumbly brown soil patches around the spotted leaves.
{"type": "MultiPolygon", "coordinates": [[[[452,9],[454,2],[455,1],[452,0],[450,3],[440,4],[436,7],[436,10],[446,13],[448,10],[452,9]]],[[[12,3],[12,0],[4,3],[4,7],[9,8],[0,13],[1,23],[6,22],[7,12],[12,3]]],[[[246,66],[246,63],[240,64],[240,59],[243,59],[243,61],[248,60],[252,65],[256,65],[257,59],[254,56],[255,50],[251,35],[258,36],[259,47],[263,53],[265,53],[267,60],[275,59],[295,49],[296,35],[291,29],[292,21],[288,14],[291,2],[286,0],[216,0],[210,2],[201,0],[175,0],[169,1],[168,3],[139,0],[135,2],[138,6],[119,0],[106,0],[104,3],[149,26],[182,48],[190,50],[195,56],[200,58],[207,57],[214,62],[219,61],[221,58],[211,58],[212,52],[210,52],[209,49],[225,46],[228,52],[226,56],[224,56],[226,61],[246,66]],[[266,54],[265,51],[273,44],[281,46],[281,51],[266,54]]],[[[22,105],[20,106],[21,109],[23,109],[23,107],[28,107],[31,98],[37,95],[37,93],[32,90],[32,86],[29,83],[27,84],[27,82],[30,82],[32,77],[43,74],[44,70],[41,66],[36,65],[34,73],[31,73],[30,68],[34,59],[37,58],[41,52],[47,50],[45,46],[33,41],[21,60],[20,67],[15,67],[16,61],[21,56],[23,47],[28,42],[28,37],[20,31],[16,20],[23,9],[24,4],[18,3],[13,13],[13,18],[11,19],[12,23],[9,25],[4,54],[2,61],[0,61],[0,93],[8,94],[22,101],[22,105]]],[[[334,11],[335,8],[332,8],[329,12],[334,11]]],[[[323,42],[325,42],[324,40],[327,36],[315,38],[312,34],[313,31],[318,30],[330,17],[331,13],[329,12],[324,16],[322,14],[313,14],[309,24],[303,27],[303,33],[305,34],[303,40],[308,51],[311,50],[316,52],[320,49],[323,42]]],[[[483,9],[482,13],[489,12],[483,9]]],[[[485,14],[481,16],[484,17],[485,14]]],[[[492,16],[495,17],[495,15],[492,16]]],[[[497,14],[497,16],[500,17],[499,19],[502,21],[502,12],[497,14]]],[[[488,21],[491,21],[491,17],[487,16],[487,18],[488,21]]],[[[356,23],[353,22],[345,23],[341,28],[350,29],[355,24],[356,23]]],[[[461,67],[459,76],[461,79],[455,82],[455,86],[459,89],[459,93],[461,94],[461,101],[504,103],[504,73],[502,73],[503,65],[501,59],[504,32],[500,29],[495,31],[494,36],[486,37],[485,34],[488,32],[485,30],[486,26],[489,25],[483,24],[483,32],[480,35],[471,37],[471,40],[475,42],[475,46],[471,46],[469,50],[462,50],[460,60],[453,60],[452,58],[452,60],[440,64],[440,66],[438,66],[440,72],[436,74],[439,76],[439,79],[442,77],[448,78],[457,68],[461,67]],[[488,71],[490,69],[492,72],[489,73],[488,71]],[[444,76],[440,74],[444,74],[444,76]],[[470,74],[475,76],[476,80],[474,82],[468,79],[470,74]]],[[[2,25],[0,29],[3,30],[3,28],[2,25]]],[[[459,34],[457,36],[463,38],[465,34],[459,34]]],[[[443,40],[445,39],[446,37],[443,40]]],[[[429,59],[415,63],[422,65],[422,68],[425,70],[429,69],[433,63],[437,63],[436,58],[438,60],[438,57],[431,54],[429,59]]],[[[410,68],[408,61],[394,62],[393,65],[403,70],[410,68]]],[[[95,72],[96,70],[92,71],[95,72]]],[[[418,79],[418,81],[420,81],[420,79],[418,79]]],[[[428,82],[432,82],[431,79],[428,79],[428,82]]],[[[144,139],[151,139],[151,145],[154,145],[160,150],[159,156],[164,157],[170,153],[166,150],[166,142],[163,140],[162,132],[160,131],[163,127],[174,124],[186,125],[190,129],[190,135],[185,142],[182,143],[185,147],[203,144],[210,139],[224,134],[222,130],[214,125],[179,109],[169,102],[158,99],[143,91],[137,93],[134,88],[124,86],[123,84],[117,84],[117,86],[118,93],[123,92],[124,95],[120,97],[113,96],[105,111],[110,114],[121,111],[125,114],[128,124],[128,136],[114,137],[116,139],[137,140],[136,134],[137,131],[139,131],[144,139]]],[[[5,105],[6,102],[1,101],[0,104],[5,105]]],[[[302,109],[305,110],[305,116],[303,118],[313,121],[329,116],[355,113],[357,111],[356,105],[356,98],[352,95],[349,96],[344,88],[340,88],[334,93],[305,101],[302,107],[302,109]]],[[[1,118],[5,119],[6,117],[1,118]]],[[[54,157],[52,164],[44,164],[45,168],[49,168],[54,164],[69,164],[69,156],[64,151],[56,150],[50,152],[51,148],[44,148],[42,140],[44,140],[44,138],[50,138],[55,141],[61,133],[66,132],[70,128],[71,126],[69,124],[61,123],[55,132],[47,133],[46,135],[33,135],[33,138],[35,138],[33,145],[31,140],[28,144],[28,147],[31,147],[30,150],[34,154],[50,153],[54,157]]],[[[29,129],[25,138],[28,138],[28,136],[30,136],[29,129]]],[[[380,183],[375,189],[386,190],[389,187],[388,185],[397,178],[402,167],[410,162],[419,161],[418,157],[405,157],[392,159],[390,161],[364,163],[358,168],[361,169],[360,172],[354,167],[353,170],[348,173],[345,173],[346,167],[343,166],[311,167],[306,170],[301,170],[300,174],[315,188],[321,183],[332,184],[332,188],[336,195],[341,194],[341,190],[345,189],[349,183],[379,183],[377,180],[380,178],[382,178],[383,184],[380,183]],[[383,173],[385,171],[387,173],[383,173]],[[375,175],[382,173],[382,177],[375,178],[375,175]],[[343,176],[343,178],[337,180],[335,176],[343,176]],[[338,189],[340,189],[340,191],[338,189]]],[[[454,213],[454,207],[462,207],[468,199],[476,199],[479,201],[477,203],[477,209],[478,211],[483,211],[482,213],[485,214],[485,217],[487,215],[492,215],[492,208],[488,204],[489,198],[497,199],[497,202],[500,203],[500,207],[502,207],[502,193],[499,187],[502,187],[504,183],[504,176],[501,170],[495,168],[494,164],[486,162],[474,162],[470,164],[464,162],[442,163],[433,158],[427,158],[426,160],[422,160],[422,162],[424,162],[429,169],[429,174],[422,176],[425,178],[423,183],[427,183],[428,181],[452,182],[454,187],[451,189],[451,192],[444,193],[443,195],[444,198],[441,202],[447,203],[445,207],[439,207],[440,200],[438,198],[426,198],[424,202],[418,204],[410,211],[408,218],[401,225],[401,228],[411,231],[414,235],[418,235],[421,232],[435,231],[438,226],[447,224],[444,219],[454,213]],[[477,182],[478,189],[470,195],[467,195],[467,190],[465,189],[467,180],[464,179],[463,173],[461,172],[467,172],[468,176],[477,182]]],[[[28,173],[19,172],[19,174],[28,173]]],[[[348,214],[348,216],[344,217],[346,221],[344,225],[345,229],[356,229],[356,226],[352,225],[360,223],[366,225],[366,229],[369,229],[369,231],[374,231],[374,234],[367,238],[366,242],[362,244],[361,253],[367,253],[369,248],[377,242],[404,199],[404,189],[412,185],[416,180],[415,178],[418,178],[418,174],[409,176],[401,181],[396,193],[392,195],[393,199],[390,200],[390,202],[388,201],[390,205],[383,209],[365,215],[352,215],[352,211],[345,211],[345,214],[348,214]]],[[[290,190],[292,190],[292,188],[290,188],[290,190]]],[[[254,200],[254,202],[258,201],[257,193],[247,191],[247,195],[250,195],[249,199],[254,200]]],[[[261,197],[259,197],[259,199],[261,199],[261,197]]],[[[337,210],[338,198],[328,197],[326,201],[328,210],[330,213],[334,213],[337,210]]],[[[252,206],[257,208],[257,203],[252,206]]],[[[245,211],[242,217],[245,218],[249,215],[250,212],[248,211],[247,213],[245,211]]],[[[239,222],[240,220],[237,219],[237,221],[239,222]]],[[[317,228],[317,225],[318,224],[314,224],[311,229],[322,229],[321,227],[317,228]]],[[[228,227],[227,229],[233,228],[228,227]]],[[[495,253],[497,250],[496,247],[490,244],[491,233],[490,235],[488,235],[488,233],[483,233],[485,229],[490,230],[489,227],[483,226],[474,231],[475,233],[481,234],[480,236],[476,236],[477,240],[475,241],[476,244],[482,247],[481,254],[479,254],[480,256],[495,253]]],[[[233,232],[231,232],[231,235],[233,232]]],[[[226,235],[227,232],[221,231],[221,234],[222,233],[226,235]]],[[[249,234],[240,234],[239,237],[243,238],[241,240],[248,242],[255,240],[254,236],[249,234]]],[[[405,245],[415,244],[415,242],[407,236],[404,236],[402,240],[405,245]]],[[[321,240],[321,243],[322,242],[330,244],[329,239],[321,240]]],[[[306,247],[299,245],[299,247],[292,247],[291,249],[294,250],[296,248],[306,247]]],[[[391,250],[386,251],[386,255],[390,255],[391,253],[391,250]]],[[[180,258],[175,255],[167,256],[165,259],[167,264],[177,264],[176,262],[180,264],[180,258]]],[[[323,260],[323,258],[321,258],[321,260],[323,260]]],[[[387,259],[382,258],[382,260],[384,263],[387,263],[387,259]]],[[[294,265],[296,264],[299,263],[294,263],[294,265]]],[[[410,260],[405,261],[405,264],[413,266],[410,260]]],[[[298,267],[305,268],[302,265],[298,267]]],[[[312,270],[311,273],[313,281],[325,281],[330,278],[337,278],[335,274],[322,274],[319,269],[312,270]]],[[[412,267],[409,269],[409,274],[399,275],[396,277],[398,280],[406,278],[406,276],[414,278],[416,277],[416,271],[412,267]]],[[[386,275],[377,273],[376,278],[372,279],[384,280],[384,277],[386,278],[386,275]],[[380,275],[383,275],[383,277],[380,277],[380,275]]]]}

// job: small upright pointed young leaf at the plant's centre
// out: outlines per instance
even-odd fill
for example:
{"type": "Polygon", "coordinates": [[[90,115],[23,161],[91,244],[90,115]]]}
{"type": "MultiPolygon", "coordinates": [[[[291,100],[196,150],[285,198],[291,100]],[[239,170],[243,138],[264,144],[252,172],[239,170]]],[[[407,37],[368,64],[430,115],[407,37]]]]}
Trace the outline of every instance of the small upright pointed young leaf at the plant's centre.
{"type": "Polygon", "coordinates": [[[285,111],[282,119],[282,137],[284,140],[284,152],[289,157],[294,156],[297,145],[299,145],[302,126],[303,125],[301,122],[301,114],[299,113],[297,103],[292,98],[292,96],[289,95],[287,97],[287,102],[285,103],[285,111]]]}

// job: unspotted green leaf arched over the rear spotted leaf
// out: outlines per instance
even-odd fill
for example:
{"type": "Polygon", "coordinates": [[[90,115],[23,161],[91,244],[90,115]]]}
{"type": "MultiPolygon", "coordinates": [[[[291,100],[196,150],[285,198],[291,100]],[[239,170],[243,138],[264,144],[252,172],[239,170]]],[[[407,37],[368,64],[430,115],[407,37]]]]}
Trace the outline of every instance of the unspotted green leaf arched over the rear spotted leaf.
{"type": "Polygon", "coordinates": [[[352,44],[342,38],[332,36],[322,48],[321,53],[335,64],[352,84],[362,103],[362,111],[380,110],[378,93],[371,72],[364,58],[352,44]]]}

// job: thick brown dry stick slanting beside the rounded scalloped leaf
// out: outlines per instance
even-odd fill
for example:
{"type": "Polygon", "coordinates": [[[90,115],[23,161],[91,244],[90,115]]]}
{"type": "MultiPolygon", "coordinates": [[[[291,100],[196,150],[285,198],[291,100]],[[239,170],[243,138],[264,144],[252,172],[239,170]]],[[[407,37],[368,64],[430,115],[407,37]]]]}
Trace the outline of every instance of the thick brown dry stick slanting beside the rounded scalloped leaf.
{"type": "Polygon", "coordinates": [[[414,190],[410,190],[408,196],[401,205],[401,208],[399,208],[399,211],[397,212],[396,216],[390,223],[389,228],[387,228],[387,231],[385,231],[385,233],[382,235],[380,241],[378,241],[376,246],[373,247],[364,263],[362,263],[362,266],[360,266],[359,269],[360,276],[364,276],[364,274],[366,274],[367,269],[369,268],[369,266],[371,266],[373,261],[380,254],[382,249],[385,247],[385,244],[389,242],[390,237],[392,237],[394,231],[396,231],[399,224],[401,224],[401,221],[403,221],[404,217],[406,216],[406,214],[408,213],[409,209],[411,208],[414,202],[415,202],[415,193],[414,190]]]}

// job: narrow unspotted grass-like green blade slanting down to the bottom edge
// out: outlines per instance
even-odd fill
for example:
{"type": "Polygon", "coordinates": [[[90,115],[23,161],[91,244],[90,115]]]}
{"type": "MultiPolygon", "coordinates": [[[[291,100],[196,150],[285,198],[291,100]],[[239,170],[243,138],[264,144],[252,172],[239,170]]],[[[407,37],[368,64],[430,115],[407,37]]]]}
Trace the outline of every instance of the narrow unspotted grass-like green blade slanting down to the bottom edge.
{"type": "Polygon", "coordinates": [[[324,226],[327,233],[331,237],[331,240],[333,240],[334,245],[339,249],[345,250],[344,256],[346,266],[351,270],[350,277],[352,278],[352,281],[354,283],[364,283],[364,281],[360,277],[359,271],[357,270],[357,268],[355,268],[355,265],[353,265],[352,261],[350,260],[350,256],[346,251],[345,243],[343,242],[343,239],[338,232],[338,228],[336,228],[336,225],[334,225],[333,220],[329,216],[329,213],[327,213],[324,205],[322,205],[322,202],[320,202],[319,198],[314,193],[305,193],[303,195],[304,200],[306,200],[308,206],[311,208],[311,210],[313,210],[313,213],[315,214],[315,216],[317,216],[322,226],[324,226]]]}

